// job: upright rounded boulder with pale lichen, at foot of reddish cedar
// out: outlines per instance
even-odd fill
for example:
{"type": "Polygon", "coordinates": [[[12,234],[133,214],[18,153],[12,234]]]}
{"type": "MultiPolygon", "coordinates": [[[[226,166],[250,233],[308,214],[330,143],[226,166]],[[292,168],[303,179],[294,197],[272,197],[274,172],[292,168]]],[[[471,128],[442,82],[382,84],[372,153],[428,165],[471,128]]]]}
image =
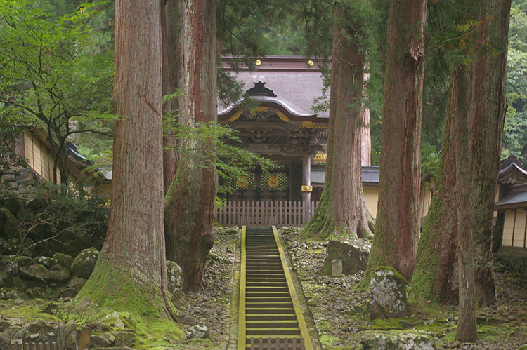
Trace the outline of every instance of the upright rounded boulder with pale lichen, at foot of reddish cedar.
{"type": "Polygon", "coordinates": [[[392,267],[379,267],[370,282],[370,318],[408,316],[406,280],[392,267]]]}

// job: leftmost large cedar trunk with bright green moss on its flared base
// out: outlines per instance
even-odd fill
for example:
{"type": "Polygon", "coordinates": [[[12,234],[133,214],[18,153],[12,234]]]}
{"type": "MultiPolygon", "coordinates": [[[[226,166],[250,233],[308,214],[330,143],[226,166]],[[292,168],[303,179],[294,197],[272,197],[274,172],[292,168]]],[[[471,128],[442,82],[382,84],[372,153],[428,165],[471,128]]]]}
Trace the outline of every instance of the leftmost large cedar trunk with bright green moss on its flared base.
{"type": "Polygon", "coordinates": [[[115,4],[112,208],[79,298],[143,316],[171,316],[163,234],[159,0],[115,4]]]}

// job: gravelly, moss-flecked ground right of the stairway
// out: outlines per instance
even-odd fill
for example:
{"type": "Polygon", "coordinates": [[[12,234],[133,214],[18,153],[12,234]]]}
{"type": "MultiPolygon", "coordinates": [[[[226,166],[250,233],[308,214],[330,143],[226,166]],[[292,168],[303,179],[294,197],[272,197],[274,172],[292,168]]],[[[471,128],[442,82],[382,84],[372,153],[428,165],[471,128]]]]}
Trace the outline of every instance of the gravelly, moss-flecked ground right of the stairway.
{"type": "Polygon", "coordinates": [[[320,276],[327,243],[301,241],[284,233],[319,332],[323,349],[363,349],[358,333],[363,330],[416,329],[433,332],[439,349],[512,349],[527,344],[527,276],[511,271],[506,263],[495,262],[497,304],[480,309],[476,344],[454,342],[457,308],[425,313],[412,308],[406,320],[375,321],[367,316],[367,292],[353,290],[362,273],[339,278],[320,276]]]}

